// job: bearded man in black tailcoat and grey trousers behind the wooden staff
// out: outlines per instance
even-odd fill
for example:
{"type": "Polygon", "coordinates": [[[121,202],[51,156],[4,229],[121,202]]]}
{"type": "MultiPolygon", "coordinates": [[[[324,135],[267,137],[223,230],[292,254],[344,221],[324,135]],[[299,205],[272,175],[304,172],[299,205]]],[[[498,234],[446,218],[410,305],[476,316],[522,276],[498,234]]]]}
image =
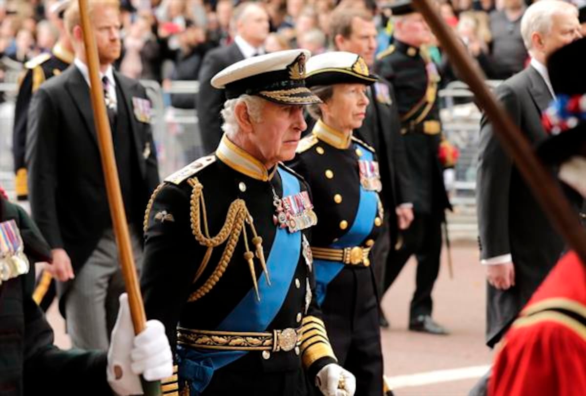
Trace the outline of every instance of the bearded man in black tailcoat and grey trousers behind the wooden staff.
{"type": "MultiPolygon", "coordinates": [[[[158,184],[158,168],[146,92],[111,66],[121,48],[118,8],[118,0],[90,1],[122,198],[139,268],[142,219],[158,184]]],[[[74,65],[43,84],[30,103],[30,204],[52,248],[49,268],[60,281],[60,309],[67,316],[74,346],[104,349],[124,282],[94,130],[77,4],[67,9],[65,21],[76,54],[74,65]]]]}

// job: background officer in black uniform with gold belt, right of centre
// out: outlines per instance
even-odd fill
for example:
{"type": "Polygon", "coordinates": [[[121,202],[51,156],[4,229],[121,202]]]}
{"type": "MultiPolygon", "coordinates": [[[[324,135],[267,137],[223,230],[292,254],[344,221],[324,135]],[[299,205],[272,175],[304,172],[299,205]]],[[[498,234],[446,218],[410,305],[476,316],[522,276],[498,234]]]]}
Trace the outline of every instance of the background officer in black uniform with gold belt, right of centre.
{"type": "MultiPolygon", "coordinates": [[[[415,254],[417,287],[411,300],[409,329],[445,334],[447,331],[431,319],[431,291],[440,269],[441,223],[445,221],[444,210],[451,208],[442,171],[453,165],[452,158],[445,158],[444,164],[439,158],[440,145],[447,144],[441,134],[437,103],[440,75],[424,47],[431,32],[423,16],[415,12],[410,1],[396,3],[392,11],[396,17],[394,43],[377,56],[375,69],[393,84],[397,96],[401,133],[413,176],[414,221],[402,232],[400,248],[389,255],[383,290],[415,254]]],[[[444,152],[451,153],[448,149],[444,152]]]]}

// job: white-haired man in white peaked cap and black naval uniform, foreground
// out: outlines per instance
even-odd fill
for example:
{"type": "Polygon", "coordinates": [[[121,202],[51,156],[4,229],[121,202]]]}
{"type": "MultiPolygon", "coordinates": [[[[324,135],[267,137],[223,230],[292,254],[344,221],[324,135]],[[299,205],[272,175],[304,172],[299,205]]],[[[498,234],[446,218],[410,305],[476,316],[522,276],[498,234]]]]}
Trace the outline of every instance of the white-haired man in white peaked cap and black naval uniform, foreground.
{"type": "Polygon", "coordinates": [[[213,155],[167,177],[145,214],[141,285],[178,361],[169,394],[352,395],[315,302],[317,219],[291,160],[305,129],[307,50],[261,55],[212,79],[226,89],[213,155]]]}

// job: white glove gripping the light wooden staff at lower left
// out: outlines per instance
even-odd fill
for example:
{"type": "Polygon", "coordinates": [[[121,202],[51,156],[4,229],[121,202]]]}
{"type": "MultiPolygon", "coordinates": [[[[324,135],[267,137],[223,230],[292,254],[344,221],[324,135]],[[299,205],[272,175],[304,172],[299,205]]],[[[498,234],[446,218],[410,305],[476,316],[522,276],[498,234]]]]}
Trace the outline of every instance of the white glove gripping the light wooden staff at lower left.
{"type": "Polygon", "coordinates": [[[119,395],[142,394],[139,375],[147,381],[162,380],[173,374],[173,356],[165,326],[147,321],[146,328],[134,336],[128,295],[120,295],[120,310],[108,349],[106,369],[110,387],[119,395]]]}

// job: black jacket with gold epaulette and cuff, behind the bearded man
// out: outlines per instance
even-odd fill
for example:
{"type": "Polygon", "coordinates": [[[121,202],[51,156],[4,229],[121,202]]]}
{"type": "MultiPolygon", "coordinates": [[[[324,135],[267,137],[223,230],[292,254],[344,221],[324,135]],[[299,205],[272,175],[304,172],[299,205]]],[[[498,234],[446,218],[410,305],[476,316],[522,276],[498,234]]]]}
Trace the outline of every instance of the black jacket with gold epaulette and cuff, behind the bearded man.
{"type": "Polygon", "coordinates": [[[51,53],[42,53],[25,63],[26,73],[22,76],[18,88],[12,133],[12,154],[14,171],[16,172],[16,198],[18,199],[28,198],[25,145],[30,99],[33,93],[39,89],[40,84],[53,76],[60,75],[71,62],[73,62],[73,54],[57,44],[51,53]]]}

